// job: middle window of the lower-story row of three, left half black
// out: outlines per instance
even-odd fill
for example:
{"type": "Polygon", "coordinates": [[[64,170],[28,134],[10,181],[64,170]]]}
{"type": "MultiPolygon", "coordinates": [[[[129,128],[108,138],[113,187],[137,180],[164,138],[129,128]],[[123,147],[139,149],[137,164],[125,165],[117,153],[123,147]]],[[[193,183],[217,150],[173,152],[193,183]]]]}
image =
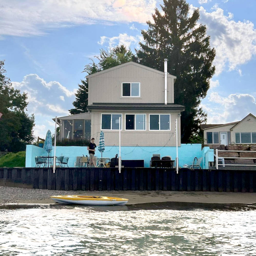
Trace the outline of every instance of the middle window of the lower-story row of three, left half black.
{"type": "Polygon", "coordinates": [[[146,114],[125,114],[125,130],[146,130],[146,114]]]}

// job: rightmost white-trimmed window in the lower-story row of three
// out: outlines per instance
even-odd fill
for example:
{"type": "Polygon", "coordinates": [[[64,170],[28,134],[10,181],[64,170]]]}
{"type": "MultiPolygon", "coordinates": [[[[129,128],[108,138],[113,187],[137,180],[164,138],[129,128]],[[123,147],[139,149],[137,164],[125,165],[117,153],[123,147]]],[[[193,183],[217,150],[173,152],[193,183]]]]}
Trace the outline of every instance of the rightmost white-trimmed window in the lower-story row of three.
{"type": "Polygon", "coordinates": [[[149,114],[149,130],[150,131],[169,131],[170,130],[170,114],[149,114]]]}

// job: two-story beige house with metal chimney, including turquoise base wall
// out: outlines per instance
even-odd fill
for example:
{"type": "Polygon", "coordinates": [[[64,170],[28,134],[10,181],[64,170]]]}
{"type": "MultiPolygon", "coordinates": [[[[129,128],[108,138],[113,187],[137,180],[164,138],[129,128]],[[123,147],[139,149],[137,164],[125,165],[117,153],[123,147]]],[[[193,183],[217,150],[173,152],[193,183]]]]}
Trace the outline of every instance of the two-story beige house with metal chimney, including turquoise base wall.
{"type": "MultiPolygon", "coordinates": [[[[59,117],[61,140],[90,140],[94,137],[98,145],[100,132],[103,131],[103,157],[112,158],[119,154],[121,141],[121,158],[143,160],[145,167],[149,167],[153,154],[170,156],[175,160],[177,151],[179,166],[192,163],[195,157],[203,157],[202,167],[213,161],[213,153],[209,157],[206,154],[208,149],[202,150],[201,144],[181,144],[180,120],[185,107],[174,102],[176,76],[167,73],[166,59],[164,72],[127,62],[86,78],[89,112],[59,117]]],[[[40,150],[27,146],[26,167],[34,165],[34,156],[43,153],[40,150]]],[[[86,147],[56,147],[57,156],[69,157],[70,167],[74,166],[77,156],[86,154],[86,147]]],[[[96,156],[101,156],[97,148],[96,156]]]]}

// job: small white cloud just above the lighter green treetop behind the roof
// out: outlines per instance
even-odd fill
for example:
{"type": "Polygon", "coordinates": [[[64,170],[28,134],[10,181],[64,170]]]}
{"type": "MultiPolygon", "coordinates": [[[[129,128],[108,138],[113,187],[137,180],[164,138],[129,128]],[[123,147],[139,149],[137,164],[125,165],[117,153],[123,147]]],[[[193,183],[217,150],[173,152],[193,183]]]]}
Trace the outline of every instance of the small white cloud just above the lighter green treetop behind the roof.
{"type": "Polygon", "coordinates": [[[139,41],[143,41],[143,37],[141,35],[129,36],[126,33],[124,33],[113,37],[101,36],[98,44],[108,44],[109,48],[113,48],[116,45],[121,44],[124,44],[127,48],[129,48],[131,45],[134,45],[135,48],[137,48],[139,41]]]}

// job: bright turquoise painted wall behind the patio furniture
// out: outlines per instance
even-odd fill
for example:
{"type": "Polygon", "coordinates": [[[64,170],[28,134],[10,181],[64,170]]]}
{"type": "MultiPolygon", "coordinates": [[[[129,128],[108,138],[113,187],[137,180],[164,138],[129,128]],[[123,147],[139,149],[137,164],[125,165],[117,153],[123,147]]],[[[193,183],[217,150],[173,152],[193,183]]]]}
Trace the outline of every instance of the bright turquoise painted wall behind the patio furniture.
{"type": "MultiPolygon", "coordinates": [[[[115,157],[119,154],[118,146],[106,146],[102,157],[115,157]]],[[[121,158],[124,160],[144,159],[144,166],[149,167],[150,160],[153,154],[160,154],[160,157],[170,156],[173,160],[176,158],[176,147],[121,147],[121,158]]],[[[46,152],[37,146],[27,145],[26,149],[26,167],[35,166],[35,156],[47,155],[46,152]]],[[[50,156],[54,155],[54,147],[50,156]]],[[[56,156],[69,157],[69,167],[74,167],[77,156],[89,155],[87,147],[78,146],[56,146],[56,156]]],[[[95,155],[101,157],[101,153],[97,150],[95,155]]],[[[192,164],[194,157],[203,157],[201,167],[208,168],[207,161],[213,161],[213,151],[209,147],[201,149],[201,144],[181,144],[178,147],[179,166],[184,164],[192,164]],[[207,158],[205,157],[207,155],[207,158]],[[206,162],[205,162],[206,161],[206,162]]]]}

